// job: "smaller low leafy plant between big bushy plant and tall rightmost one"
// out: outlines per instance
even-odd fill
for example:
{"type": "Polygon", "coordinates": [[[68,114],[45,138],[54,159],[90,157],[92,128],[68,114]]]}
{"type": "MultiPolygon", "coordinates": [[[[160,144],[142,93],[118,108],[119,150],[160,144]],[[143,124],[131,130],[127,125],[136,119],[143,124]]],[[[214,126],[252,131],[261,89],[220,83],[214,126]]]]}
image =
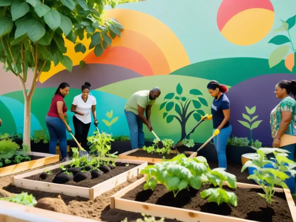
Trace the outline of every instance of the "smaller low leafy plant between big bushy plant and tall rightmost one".
{"type": "Polygon", "coordinates": [[[237,178],[231,173],[227,173],[224,168],[215,168],[206,173],[208,182],[218,188],[203,190],[200,197],[208,198],[208,202],[216,202],[218,205],[225,202],[229,205],[237,206],[237,196],[234,192],[228,192],[222,188],[223,182],[227,182],[230,188],[237,188],[237,178]]]}

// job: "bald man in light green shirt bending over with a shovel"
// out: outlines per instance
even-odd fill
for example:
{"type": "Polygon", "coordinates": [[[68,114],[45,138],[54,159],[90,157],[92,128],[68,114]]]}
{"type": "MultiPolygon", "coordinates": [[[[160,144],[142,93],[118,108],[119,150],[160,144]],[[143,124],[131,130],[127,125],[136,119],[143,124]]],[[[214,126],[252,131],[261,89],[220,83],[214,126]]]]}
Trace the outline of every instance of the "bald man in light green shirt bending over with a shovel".
{"type": "Polygon", "coordinates": [[[152,90],[141,90],[135,92],[126,102],[124,113],[130,130],[132,149],[142,148],[144,144],[143,123],[152,131],[150,122],[151,107],[155,99],[160,96],[158,87],[152,90]],[[146,117],[144,115],[146,113],[146,117]]]}

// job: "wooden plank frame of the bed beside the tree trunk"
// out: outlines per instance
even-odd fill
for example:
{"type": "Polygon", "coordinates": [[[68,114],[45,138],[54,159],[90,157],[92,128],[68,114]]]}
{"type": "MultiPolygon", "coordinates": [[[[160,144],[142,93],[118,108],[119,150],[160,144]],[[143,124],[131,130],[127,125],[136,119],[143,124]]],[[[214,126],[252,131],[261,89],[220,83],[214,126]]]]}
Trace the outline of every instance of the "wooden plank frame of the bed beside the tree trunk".
{"type": "Polygon", "coordinates": [[[15,165],[0,168],[0,177],[7,176],[12,173],[18,173],[25,170],[30,170],[36,167],[59,162],[59,155],[39,152],[28,152],[28,155],[44,157],[38,160],[30,160],[15,165]]]}

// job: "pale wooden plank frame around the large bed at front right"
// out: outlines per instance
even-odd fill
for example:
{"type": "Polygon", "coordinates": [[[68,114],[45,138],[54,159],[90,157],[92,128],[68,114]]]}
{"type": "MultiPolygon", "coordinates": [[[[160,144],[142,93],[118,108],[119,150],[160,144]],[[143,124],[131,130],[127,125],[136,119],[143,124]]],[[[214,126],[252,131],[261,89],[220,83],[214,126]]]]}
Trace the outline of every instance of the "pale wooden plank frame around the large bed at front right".
{"type": "MultiPolygon", "coordinates": [[[[127,210],[136,213],[144,213],[146,215],[151,215],[155,217],[164,217],[170,219],[176,219],[179,221],[184,222],[212,222],[212,221],[219,221],[219,222],[255,222],[241,218],[229,217],[229,216],[222,216],[212,213],[204,213],[195,210],[186,210],[177,207],[167,207],[161,206],[156,204],[150,204],[145,202],[133,201],[133,200],[126,200],[121,197],[125,195],[127,192],[131,191],[132,189],[136,188],[140,184],[145,182],[145,178],[141,178],[136,182],[126,186],[116,194],[111,196],[111,203],[110,208],[112,209],[119,209],[119,210],[127,210]]],[[[237,183],[237,187],[240,188],[261,188],[258,185],[253,184],[244,184],[244,183],[237,183]]],[[[293,222],[296,222],[296,207],[293,201],[291,192],[289,189],[281,189],[281,188],[274,188],[276,192],[284,192],[288,205],[289,210],[292,215],[293,222]]],[[[260,198],[260,197],[258,197],[260,198]]]]}

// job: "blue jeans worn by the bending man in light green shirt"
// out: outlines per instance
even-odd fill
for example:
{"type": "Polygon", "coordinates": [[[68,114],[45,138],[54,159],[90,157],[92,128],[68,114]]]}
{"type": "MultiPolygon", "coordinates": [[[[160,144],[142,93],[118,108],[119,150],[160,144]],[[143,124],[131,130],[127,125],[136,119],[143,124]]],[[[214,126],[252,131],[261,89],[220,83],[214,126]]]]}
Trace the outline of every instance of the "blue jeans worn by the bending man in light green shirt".
{"type": "Polygon", "coordinates": [[[143,148],[145,145],[145,137],[143,132],[143,122],[138,115],[133,112],[124,110],[128,128],[130,130],[131,148],[143,148]]]}

